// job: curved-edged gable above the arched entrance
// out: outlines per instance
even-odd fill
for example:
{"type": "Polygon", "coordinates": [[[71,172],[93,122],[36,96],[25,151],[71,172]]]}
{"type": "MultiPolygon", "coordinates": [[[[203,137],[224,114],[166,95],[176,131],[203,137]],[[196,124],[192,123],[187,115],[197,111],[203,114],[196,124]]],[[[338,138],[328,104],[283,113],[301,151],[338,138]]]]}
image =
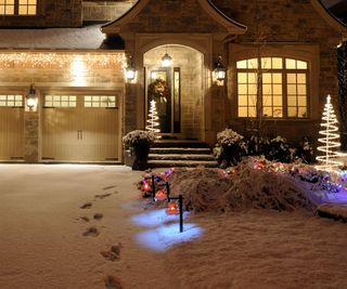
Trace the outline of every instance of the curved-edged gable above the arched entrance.
{"type": "Polygon", "coordinates": [[[219,11],[210,0],[139,0],[128,13],[102,27],[119,32],[210,32],[242,35],[246,26],[219,11]]]}

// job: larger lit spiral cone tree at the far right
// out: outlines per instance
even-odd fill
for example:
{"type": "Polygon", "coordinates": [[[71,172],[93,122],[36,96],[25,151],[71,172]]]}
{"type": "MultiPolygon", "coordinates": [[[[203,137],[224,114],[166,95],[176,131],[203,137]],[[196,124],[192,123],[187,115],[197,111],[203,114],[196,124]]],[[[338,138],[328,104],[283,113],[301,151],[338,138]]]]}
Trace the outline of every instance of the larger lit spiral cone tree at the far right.
{"type": "Polygon", "coordinates": [[[322,137],[318,139],[322,145],[317,149],[322,154],[317,156],[317,160],[320,162],[316,166],[319,170],[331,170],[344,163],[336,160],[336,157],[342,156],[338,152],[340,147],[339,134],[337,128],[337,118],[334,113],[334,107],[331,104],[330,95],[326,96],[326,103],[324,105],[324,111],[322,116],[322,130],[319,132],[322,137]]]}

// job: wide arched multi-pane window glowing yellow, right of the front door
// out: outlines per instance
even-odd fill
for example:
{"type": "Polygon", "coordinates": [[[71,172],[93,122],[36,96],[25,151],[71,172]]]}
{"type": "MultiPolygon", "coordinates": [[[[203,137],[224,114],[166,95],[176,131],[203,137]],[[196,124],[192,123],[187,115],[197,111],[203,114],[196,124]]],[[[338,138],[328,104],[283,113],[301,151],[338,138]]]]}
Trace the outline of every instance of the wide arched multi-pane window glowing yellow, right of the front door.
{"type": "Polygon", "coordinates": [[[260,57],[239,61],[236,69],[239,117],[308,117],[307,62],[260,57]]]}

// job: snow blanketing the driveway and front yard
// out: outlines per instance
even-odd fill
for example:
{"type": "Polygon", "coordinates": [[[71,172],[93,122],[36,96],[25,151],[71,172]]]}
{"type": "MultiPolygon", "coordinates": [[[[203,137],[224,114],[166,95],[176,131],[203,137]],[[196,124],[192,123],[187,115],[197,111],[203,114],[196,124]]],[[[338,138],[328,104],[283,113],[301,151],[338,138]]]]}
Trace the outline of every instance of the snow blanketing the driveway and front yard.
{"type": "Polygon", "coordinates": [[[0,288],[347,288],[345,223],[300,209],[201,212],[180,235],[144,206],[140,178],[123,166],[0,165],[0,288]]]}

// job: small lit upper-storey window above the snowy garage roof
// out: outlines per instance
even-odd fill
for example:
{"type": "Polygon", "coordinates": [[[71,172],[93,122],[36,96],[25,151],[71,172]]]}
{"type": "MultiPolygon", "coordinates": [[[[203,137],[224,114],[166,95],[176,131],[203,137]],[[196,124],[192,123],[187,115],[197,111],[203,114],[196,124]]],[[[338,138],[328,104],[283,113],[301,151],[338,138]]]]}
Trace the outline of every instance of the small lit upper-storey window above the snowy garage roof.
{"type": "Polygon", "coordinates": [[[0,15],[37,15],[38,0],[0,0],[0,15]]]}

